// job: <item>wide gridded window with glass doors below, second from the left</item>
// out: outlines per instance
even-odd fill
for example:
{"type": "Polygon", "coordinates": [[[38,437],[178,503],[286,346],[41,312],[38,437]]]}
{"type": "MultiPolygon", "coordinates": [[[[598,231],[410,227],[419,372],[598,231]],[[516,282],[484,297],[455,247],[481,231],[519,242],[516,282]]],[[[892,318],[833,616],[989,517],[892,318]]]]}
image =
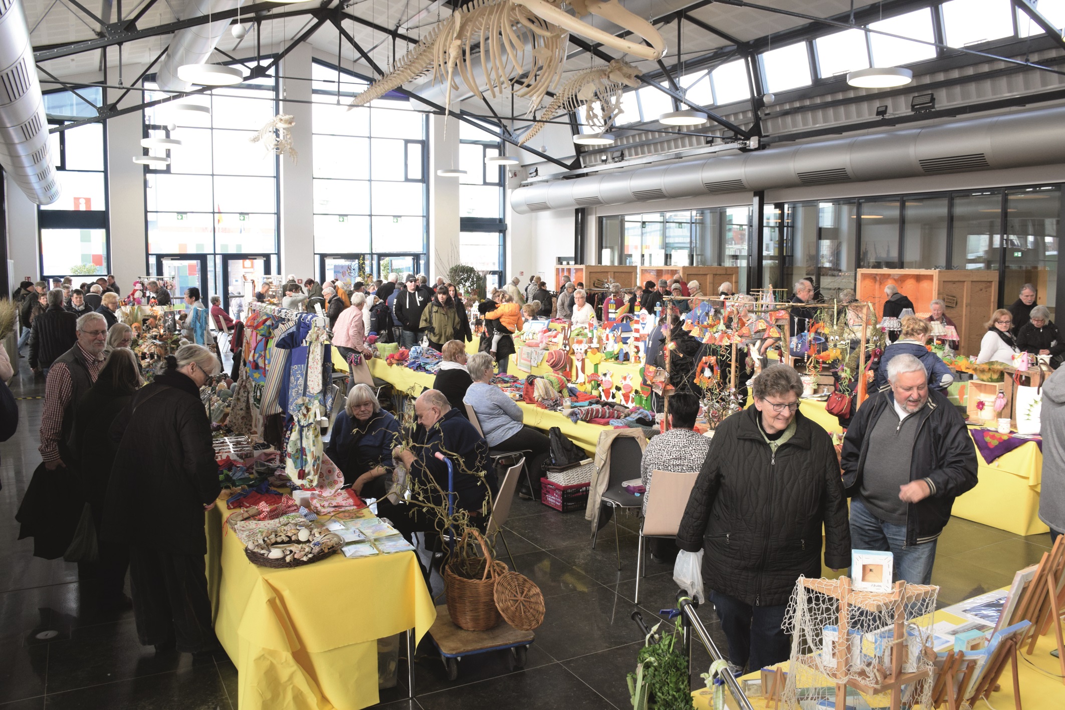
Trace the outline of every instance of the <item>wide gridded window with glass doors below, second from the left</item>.
{"type": "MultiPolygon", "coordinates": [[[[227,255],[277,258],[278,156],[251,142],[278,113],[277,80],[271,75],[185,99],[210,114],[177,111],[173,102],[144,111],[145,137],[182,142],[168,151],[146,151],[170,159],[168,165],[145,167],[148,268],[180,283],[199,283],[204,298],[226,295],[227,255]],[[200,273],[204,262],[207,274],[200,273]]],[[[155,84],[146,81],[145,87],[155,84]]],[[[167,96],[148,90],[145,100],[167,96]]]]}

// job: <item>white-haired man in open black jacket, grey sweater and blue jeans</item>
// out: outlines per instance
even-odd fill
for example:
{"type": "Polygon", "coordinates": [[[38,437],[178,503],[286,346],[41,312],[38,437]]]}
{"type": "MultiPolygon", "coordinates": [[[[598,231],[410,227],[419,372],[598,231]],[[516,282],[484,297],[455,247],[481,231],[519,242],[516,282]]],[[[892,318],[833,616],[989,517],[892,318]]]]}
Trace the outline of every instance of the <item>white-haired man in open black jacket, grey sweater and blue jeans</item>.
{"type": "Polygon", "coordinates": [[[866,401],[843,439],[840,464],[851,496],[851,541],[890,550],[895,579],[932,583],[936,540],[954,498],[977,484],[965,420],[912,354],[887,365],[890,389],[866,401]]]}

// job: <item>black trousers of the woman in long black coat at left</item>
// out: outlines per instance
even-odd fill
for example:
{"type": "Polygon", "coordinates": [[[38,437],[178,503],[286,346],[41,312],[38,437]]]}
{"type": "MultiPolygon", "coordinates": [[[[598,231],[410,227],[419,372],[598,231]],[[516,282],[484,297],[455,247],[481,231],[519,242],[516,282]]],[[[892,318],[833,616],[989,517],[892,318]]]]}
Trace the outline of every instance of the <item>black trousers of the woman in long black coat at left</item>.
{"type": "Polygon", "coordinates": [[[130,546],[130,589],[136,632],[145,646],[177,641],[185,653],[218,645],[202,555],[130,546]]]}

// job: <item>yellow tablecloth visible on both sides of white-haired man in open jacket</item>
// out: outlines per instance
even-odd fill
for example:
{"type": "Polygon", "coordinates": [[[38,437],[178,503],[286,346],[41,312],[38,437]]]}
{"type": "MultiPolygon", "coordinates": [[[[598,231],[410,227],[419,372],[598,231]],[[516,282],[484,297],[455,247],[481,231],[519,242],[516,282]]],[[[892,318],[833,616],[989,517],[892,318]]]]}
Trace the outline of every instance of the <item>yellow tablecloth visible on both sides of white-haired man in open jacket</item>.
{"type": "MultiPolygon", "coordinates": [[[[804,399],[800,411],[824,427],[839,432],[839,420],[824,410],[824,402],[804,399]]],[[[972,445],[980,464],[978,482],[954,500],[953,515],[989,525],[1017,535],[1035,535],[1050,528],[1039,519],[1039,483],[1043,480],[1043,452],[1029,442],[1000,456],[990,463],[972,445]]]]}

